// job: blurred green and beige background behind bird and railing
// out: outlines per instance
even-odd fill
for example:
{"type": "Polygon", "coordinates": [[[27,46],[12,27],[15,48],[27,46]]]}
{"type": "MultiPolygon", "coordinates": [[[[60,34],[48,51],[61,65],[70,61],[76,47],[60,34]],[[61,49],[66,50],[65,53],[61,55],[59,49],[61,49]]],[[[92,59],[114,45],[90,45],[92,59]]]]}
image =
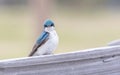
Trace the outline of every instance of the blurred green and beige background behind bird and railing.
{"type": "Polygon", "coordinates": [[[0,59],[26,57],[45,19],[55,22],[55,54],[120,38],[120,0],[0,0],[0,59]]]}

